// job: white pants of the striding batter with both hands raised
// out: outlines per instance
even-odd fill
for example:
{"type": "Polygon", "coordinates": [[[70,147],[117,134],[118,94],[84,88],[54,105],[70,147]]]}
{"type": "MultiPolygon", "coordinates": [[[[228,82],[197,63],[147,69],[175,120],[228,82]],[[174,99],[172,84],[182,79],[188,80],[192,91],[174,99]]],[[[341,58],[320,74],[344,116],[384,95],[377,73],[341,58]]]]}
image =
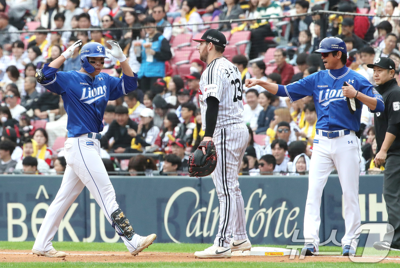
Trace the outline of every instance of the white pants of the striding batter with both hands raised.
{"type": "MultiPolygon", "coordinates": [[[[33,246],[35,250],[45,252],[53,247],[51,240],[62,218],[85,186],[88,187],[110,224],[112,224],[112,212],[119,208],[115,200],[114,187],[100,157],[100,141],[89,139],[87,134],[86,137],[84,136],[68,138],[65,141],[67,167],[60,190],[50,204],[40,226],[33,246]]],[[[129,215],[127,217],[129,219],[129,215]]],[[[135,234],[131,241],[121,237],[130,252],[136,249],[140,238],[138,234],[135,234]]]]}

